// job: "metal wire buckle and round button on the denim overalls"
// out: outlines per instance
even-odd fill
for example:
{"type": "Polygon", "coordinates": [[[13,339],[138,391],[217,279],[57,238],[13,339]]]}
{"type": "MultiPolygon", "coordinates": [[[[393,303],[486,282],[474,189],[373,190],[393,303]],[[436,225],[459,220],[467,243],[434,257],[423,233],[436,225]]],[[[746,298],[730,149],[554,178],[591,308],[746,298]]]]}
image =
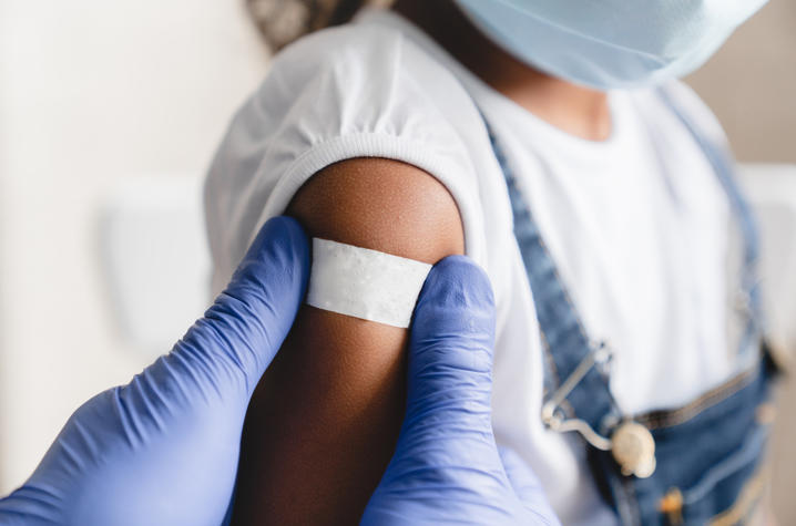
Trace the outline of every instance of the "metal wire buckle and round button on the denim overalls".
{"type": "Polygon", "coordinates": [[[600,342],[575,368],[572,374],[555,390],[542,405],[542,422],[553,431],[567,433],[576,431],[591,445],[601,451],[610,451],[622,474],[646,478],[655,472],[655,440],[645,426],[632,419],[624,419],[613,427],[611,437],[594,431],[581,419],[567,419],[561,411],[561,403],[586,375],[592,367],[606,368],[611,361],[611,349],[600,342]]]}

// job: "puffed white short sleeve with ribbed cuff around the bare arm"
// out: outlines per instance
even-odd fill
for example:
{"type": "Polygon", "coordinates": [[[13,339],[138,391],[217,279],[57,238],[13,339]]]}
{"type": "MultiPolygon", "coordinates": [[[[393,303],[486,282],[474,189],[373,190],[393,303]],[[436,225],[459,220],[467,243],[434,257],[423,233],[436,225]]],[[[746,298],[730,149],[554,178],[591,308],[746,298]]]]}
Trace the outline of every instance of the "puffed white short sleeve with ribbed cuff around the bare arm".
{"type": "Polygon", "coordinates": [[[205,183],[214,292],[309,177],[355,157],[401,161],[439,179],[458,205],[466,254],[482,259],[478,182],[448,118],[457,104],[473,103],[456,78],[389,28],[325,30],[284,50],[234,116],[205,183]]]}

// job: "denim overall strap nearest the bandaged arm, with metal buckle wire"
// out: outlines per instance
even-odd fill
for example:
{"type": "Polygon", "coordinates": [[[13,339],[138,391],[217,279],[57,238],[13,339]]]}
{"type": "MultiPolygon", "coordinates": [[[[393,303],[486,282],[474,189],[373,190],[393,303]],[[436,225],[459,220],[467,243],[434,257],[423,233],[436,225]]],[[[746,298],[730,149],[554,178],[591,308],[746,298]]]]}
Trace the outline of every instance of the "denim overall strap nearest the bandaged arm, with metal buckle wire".
{"type": "Polygon", "coordinates": [[[609,448],[610,441],[601,434],[620,420],[618,405],[609,389],[609,349],[588,338],[542,240],[539,225],[488,123],[487,131],[506,177],[514,237],[528,274],[544,344],[545,403],[542,419],[558,431],[579,431],[593,445],[609,448]]]}

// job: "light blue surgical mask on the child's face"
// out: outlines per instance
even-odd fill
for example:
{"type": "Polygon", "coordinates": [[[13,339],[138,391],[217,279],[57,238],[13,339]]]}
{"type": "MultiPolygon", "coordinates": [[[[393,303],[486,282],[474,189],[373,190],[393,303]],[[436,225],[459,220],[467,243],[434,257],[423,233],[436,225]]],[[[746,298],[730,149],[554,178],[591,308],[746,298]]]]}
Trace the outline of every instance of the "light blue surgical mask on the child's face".
{"type": "Polygon", "coordinates": [[[767,0],[456,0],[520,61],[600,90],[700,68],[767,0]]]}

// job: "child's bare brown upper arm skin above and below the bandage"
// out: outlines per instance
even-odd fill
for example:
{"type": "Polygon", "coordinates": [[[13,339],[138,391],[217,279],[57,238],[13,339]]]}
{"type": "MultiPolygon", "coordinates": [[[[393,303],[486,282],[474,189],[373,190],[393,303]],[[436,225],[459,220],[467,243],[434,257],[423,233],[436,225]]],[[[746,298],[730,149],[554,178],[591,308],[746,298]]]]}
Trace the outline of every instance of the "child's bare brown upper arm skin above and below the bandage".
{"type": "MultiPolygon", "coordinates": [[[[384,158],[330,165],[287,214],[309,237],[435,264],[463,252],[448,190],[384,158]]],[[[356,524],[404,417],[407,331],[303,306],[259,382],[242,441],[236,524],[356,524]]]]}

